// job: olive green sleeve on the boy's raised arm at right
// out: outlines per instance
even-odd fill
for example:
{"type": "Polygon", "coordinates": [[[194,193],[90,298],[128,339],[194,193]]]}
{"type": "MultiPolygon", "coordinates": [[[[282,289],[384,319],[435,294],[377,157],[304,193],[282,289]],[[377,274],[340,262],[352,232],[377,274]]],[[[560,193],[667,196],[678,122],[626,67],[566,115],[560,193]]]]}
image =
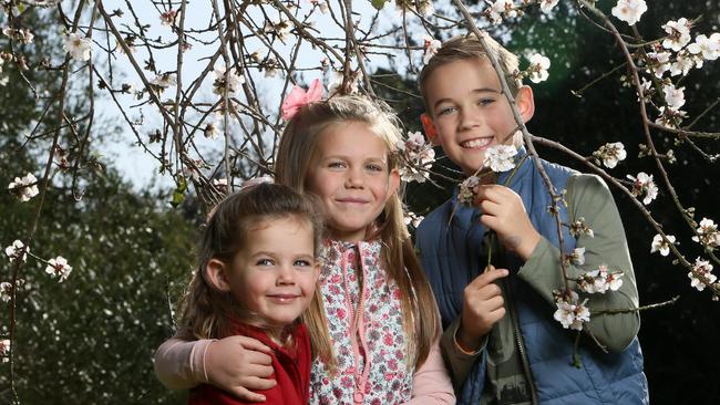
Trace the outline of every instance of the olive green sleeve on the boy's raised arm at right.
{"type": "MultiPolygon", "coordinates": [[[[577,238],[578,248],[585,247],[585,263],[567,266],[567,276],[577,279],[587,271],[606,264],[610,271],[624,272],[623,285],[617,291],[586,294],[574,282],[570,288],[578,292],[580,300],[588,299],[590,322],[586,325],[598,342],[608,351],[620,352],[627,347],[640,329],[637,311],[603,314],[605,310],[627,310],[638,308],[638,291],[635,272],[628,251],[625,229],[613,195],[605,181],[595,175],[577,175],[567,186],[568,219],[585,218],[593,229],[594,237],[582,235],[577,238]]],[[[520,277],[528,282],[545,300],[555,305],[553,290],[563,290],[560,253],[547,239],[542,238],[525,264],[520,277]]]]}

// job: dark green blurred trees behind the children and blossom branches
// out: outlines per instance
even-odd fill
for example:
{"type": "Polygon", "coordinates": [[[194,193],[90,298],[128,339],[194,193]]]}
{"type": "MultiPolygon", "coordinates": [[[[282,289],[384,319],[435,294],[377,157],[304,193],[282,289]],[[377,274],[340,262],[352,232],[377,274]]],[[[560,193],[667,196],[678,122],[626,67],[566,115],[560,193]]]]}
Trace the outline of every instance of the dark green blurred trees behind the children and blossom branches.
{"type": "MultiPolygon", "coordinates": [[[[651,2],[642,28],[659,27],[680,17],[700,18],[699,32],[717,32],[720,6],[717,0],[651,2]]],[[[611,6],[600,2],[600,6],[611,6]]],[[[564,3],[556,17],[547,20],[533,9],[516,24],[506,24],[498,37],[511,50],[542,51],[552,61],[551,79],[534,85],[536,113],[529,122],[532,133],[558,141],[590,155],[606,142],[620,141],[628,155],[637,155],[642,142],[638,105],[634,90],[620,84],[623,71],[615,72],[574,95],[588,83],[611,71],[623,61],[614,39],[597,27],[580,23],[564,3]],[[607,55],[614,55],[608,59],[607,55]]],[[[37,33],[38,34],[38,33],[37,33]]],[[[656,38],[661,32],[642,32],[656,38]]],[[[442,35],[439,35],[442,37],[442,35]]],[[[444,37],[443,37],[444,38],[444,37]]],[[[52,35],[40,41],[42,52],[62,52],[52,35]],[[44,41],[44,42],[43,42],[44,41]]],[[[693,70],[688,82],[688,110],[700,112],[718,102],[720,69],[693,70]]],[[[392,66],[391,66],[392,68],[392,66]]],[[[12,68],[6,68],[12,69],[12,68]]],[[[379,70],[374,79],[415,92],[414,77],[392,70],[379,70]]],[[[33,125],[39,104],[27,86],[20,84],[18,72],[0,92],[0,184],[7,185],[18,173],[39,173],[40,154],[22,144],[22,134],[33,125]]],[[[41,80],[41,77],[33,77],[41,80]]],[[[78,103],[88,89],[76,89],[78,103]]],[[[377,91],[382,92],[378,86],[377,91]]],[[[418,117],[423,110],[419,98],[381,94],[398,110],[408,129],[419,131],[418,117]]],[[[697,116],[698,114],[693,114],[697,116]]],[[[109,123],[104,136],[123,129],[109,123]]],[[[718,131],[718,107],[711,108],[698,127],[718,131]]],[[[717,177],[702,173],[697,154],[675,138],[655,139],[660,148],[672,148],[677,163],[669,175],[680,195],[696,196],[693,205],[699,218],[717,218],[720,194],[717,177]],[[691,179],[691,181],[685,181],[691,179]],[[702,194],[701,194],[702,193],[702,194]]],[[[716,141],[708,141],[716,142],[716,141]]],[[[717,143],[717,142],[716,142],[717,143]]],[[[717,145],[716,145],[717,146],[717,145]]],[[[97,147],[96,145],[94,147],[97,147]]],[[[584,170],[578,162],[552,149],[539,148],[541,156],[584,170]]],[[[47,150],[45,150],[47,153],[47,150]]],[[[136,153],[141,153],[140,149],[136,153]]],[[[438,154],[441,150],[436,150],[438,154]]],[[[165,191],[137,191],[122,180],[116,162],[93,155],[95,169],[84,173],[82,199],[72,195],[72,186],[53,181],[49,187],[39,231],[31,251],[42,257],[62,252],[73,266],[70,278],[58,283],[44,272],[44,263],[29,260],[23,268],[24,287],[20,291],[18,338],[14,345],[19,397],[24,404],[182,404],[184,395],[171,393],[154,377],[152,355],[162,341],[173,333],[172,309],[193,269],[193,242],[202,215],[193,200],[172,209],[165,191]]],[[[442,172],[460,178],[448,160],[442,172]]],[[[635,174],[634,167],[619,168],[635,174]]],[[[618,170],[618,169],[616,169],[618,170]]],[[[619,173],[619,172],[617,172],[619,173]]],[[[412,184],[408,189],[410,208],[424,214],[443,201],[452,184],[442,188],[429,183],[412,184]]],[[[641,314],[640,342],[645,353],[646,374],[654,404],[718,404],[720,354],[714,349],[720,336],[720,308],[709,294],[696,291],[682,271],[667,258],[650,255],[655,231],[645,225],[638,211],[616,193],[634,258],[641,304],[666,301],[676,294],[675,305],[641,314]]],[[[8,246],[32,224],[39,199],[18,204],[8,193],[0,194],[0,235],[8,246]]],[[[664,218],[666,232],[679,239],[680,218],[670,207],[668,196],[660,196],[651,206],[664,218]]],[[[700,247],[697,253],[700,255],[700,247]]],[[[693,259],[695,257],[689,257],[693,259]]],[[[8,274],[11,266],[0,261],[0,271],[8,274]]],[[[2,316],[7,318],[7,313],[2,316]]],[[[8,324],[2,319],[2,325],[8,324]]],[[[4,326],[3,326],[4,328],[4,326]]],[[[569,361],[569,360],[568,360],[569,361]]],[[[0,364],[0,403],[10,403],[9,368],[0,364]]]]}

